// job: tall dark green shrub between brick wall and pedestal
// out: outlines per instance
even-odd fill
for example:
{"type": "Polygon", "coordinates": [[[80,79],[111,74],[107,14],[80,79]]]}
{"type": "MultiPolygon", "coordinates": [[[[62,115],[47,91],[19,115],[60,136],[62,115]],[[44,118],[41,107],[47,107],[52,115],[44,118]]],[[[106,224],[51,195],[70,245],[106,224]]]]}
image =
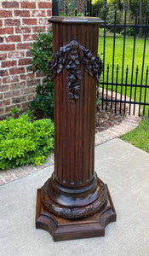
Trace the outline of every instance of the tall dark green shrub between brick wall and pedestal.
{"type": "Polygon", "coordinates": [[[36,109],[43,113],[46,118],[54,119],[54,84],[51,82],[51,74],[47,68],[47,63],[52,57],[52,31],[42,33],[38,31],[36,41],[31,43],[30,49],[32,57],[32,65],[29,70],[33,73],[39,72],[45,74],[43,84],[38,84],[36,88],[36,96],[30,102],[29,108],[36,109]]]}

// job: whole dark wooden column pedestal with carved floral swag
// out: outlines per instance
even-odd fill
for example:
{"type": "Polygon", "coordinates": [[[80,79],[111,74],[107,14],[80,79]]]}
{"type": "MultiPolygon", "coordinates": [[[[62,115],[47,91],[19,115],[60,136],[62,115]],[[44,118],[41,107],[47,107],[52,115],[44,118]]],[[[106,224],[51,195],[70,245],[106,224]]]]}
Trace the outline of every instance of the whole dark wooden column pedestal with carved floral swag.
{"type": "Polygon", "coordinates": [[[54,173],[37,189],[36,227],[54,241],[104,236],[116,220],[95,161],[96,82],[99,18],[53,17],[54,173]]]}

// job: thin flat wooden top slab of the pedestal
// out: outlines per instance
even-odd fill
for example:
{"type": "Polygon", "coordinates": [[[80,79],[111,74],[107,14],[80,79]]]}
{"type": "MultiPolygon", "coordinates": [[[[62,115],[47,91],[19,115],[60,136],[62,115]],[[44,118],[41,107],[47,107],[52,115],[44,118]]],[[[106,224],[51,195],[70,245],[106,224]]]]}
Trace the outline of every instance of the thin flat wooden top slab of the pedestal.
{"type": "Polygon", "coordinates": [[[73,16],[53,16],[48,20],[50,23],[62,23],[62,24],[100,24],[104,23],[104,20],[101,20],[98,17],[73,17],[73,16]]]}

